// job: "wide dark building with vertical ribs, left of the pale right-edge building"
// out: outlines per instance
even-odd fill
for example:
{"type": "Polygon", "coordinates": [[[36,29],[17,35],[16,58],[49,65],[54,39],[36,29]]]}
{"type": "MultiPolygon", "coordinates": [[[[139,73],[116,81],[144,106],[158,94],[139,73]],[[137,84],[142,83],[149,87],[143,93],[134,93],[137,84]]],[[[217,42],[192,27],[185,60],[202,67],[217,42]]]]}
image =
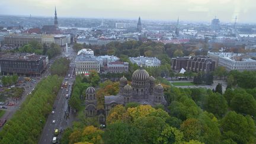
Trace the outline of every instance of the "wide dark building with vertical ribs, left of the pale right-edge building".
{"type": "Polygon", "coordinates": [[[193,72],[210,72],[215,70],[215,61],[205,56],[175,57],[172,58],[172,69],[185,69],[193,72]]]}

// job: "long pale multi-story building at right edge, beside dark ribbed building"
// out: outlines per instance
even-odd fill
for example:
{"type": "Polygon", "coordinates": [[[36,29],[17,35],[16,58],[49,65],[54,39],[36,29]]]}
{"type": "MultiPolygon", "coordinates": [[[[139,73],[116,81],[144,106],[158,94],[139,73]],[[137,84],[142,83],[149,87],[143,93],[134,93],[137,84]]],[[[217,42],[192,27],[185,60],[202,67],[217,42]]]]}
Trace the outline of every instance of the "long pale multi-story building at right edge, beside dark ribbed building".
{"type": "Polygon", "coordinates": [[[210,59],[216,61],[216,66],[224,66],[227,71],[256,71],[256,60],[242,53],[208,53],[210,59]]]}

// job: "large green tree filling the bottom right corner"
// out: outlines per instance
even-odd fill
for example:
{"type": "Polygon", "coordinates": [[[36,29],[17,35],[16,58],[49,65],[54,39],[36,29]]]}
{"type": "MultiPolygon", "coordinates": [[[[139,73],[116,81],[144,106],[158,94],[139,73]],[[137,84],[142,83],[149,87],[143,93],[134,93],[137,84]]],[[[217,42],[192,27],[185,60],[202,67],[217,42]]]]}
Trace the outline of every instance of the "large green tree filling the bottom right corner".
{"type": "Polygon", "coordinates": [[[220,123],[223,139],[236,143],[255,143],[255,123],[250,116],[242,116],[230,111],[220,123]]]}

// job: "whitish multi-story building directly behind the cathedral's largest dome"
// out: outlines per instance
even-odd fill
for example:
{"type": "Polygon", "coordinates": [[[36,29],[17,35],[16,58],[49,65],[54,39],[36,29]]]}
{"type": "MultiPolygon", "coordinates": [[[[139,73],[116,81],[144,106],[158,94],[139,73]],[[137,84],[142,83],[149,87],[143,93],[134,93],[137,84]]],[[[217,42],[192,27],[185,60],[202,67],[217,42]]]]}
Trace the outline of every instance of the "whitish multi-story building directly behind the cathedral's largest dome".
{"type": "Polygon", "coordinates": [[[161,65],[161,61],[156,57],[129,57],[132,63],[137,63],[137,65],[142,65],[145,67],[157,67],[161,65]]]}

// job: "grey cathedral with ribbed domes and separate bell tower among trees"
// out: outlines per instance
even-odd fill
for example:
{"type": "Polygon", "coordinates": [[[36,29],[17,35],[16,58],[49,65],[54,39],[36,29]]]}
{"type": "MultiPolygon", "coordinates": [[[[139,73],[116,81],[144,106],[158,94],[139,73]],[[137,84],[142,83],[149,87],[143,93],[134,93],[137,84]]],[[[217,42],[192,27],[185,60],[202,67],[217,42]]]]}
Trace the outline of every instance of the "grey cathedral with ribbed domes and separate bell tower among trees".
{"type": "Polygon", "coordinates": [[[104,110],[97,110],[97,98],[93,87],[87,88],[85,92],[85,114],[88,117],[98,116],[100,123],[104,123],[111,108],[117,104],[126,105],[136,102],[139,104],[156,105],[167,102],[164,98],[164,88],[161,84],[155,84],[155,78],[149,76],[149,73],[140,66],[133,72],[132,85],[128,85],[127,79],[120,78],[119,94],[104,97],[104,110]]]}

